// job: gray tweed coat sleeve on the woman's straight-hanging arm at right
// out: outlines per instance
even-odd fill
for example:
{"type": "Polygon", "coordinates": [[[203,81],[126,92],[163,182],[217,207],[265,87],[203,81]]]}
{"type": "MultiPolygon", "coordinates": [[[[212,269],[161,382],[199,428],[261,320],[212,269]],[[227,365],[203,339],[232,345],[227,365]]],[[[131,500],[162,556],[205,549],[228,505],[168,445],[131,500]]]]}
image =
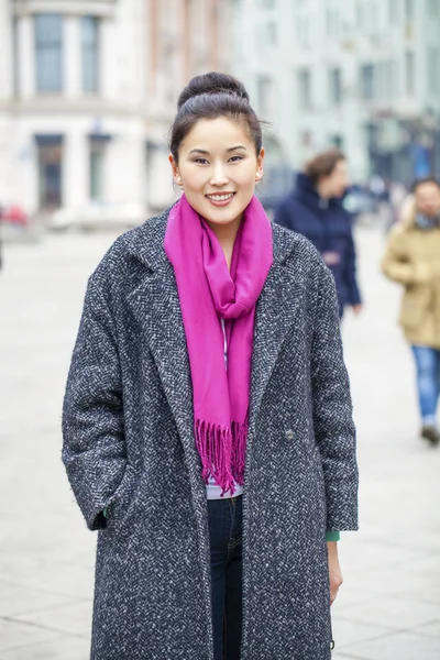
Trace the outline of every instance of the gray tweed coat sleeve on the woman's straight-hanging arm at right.
{"type": "Polygon", "coordinates": [[[358,529],[356,433],[330,271],[319,264],[314,320],[311,386],[315,436],[326,485],[327,531],[358,529]]]}

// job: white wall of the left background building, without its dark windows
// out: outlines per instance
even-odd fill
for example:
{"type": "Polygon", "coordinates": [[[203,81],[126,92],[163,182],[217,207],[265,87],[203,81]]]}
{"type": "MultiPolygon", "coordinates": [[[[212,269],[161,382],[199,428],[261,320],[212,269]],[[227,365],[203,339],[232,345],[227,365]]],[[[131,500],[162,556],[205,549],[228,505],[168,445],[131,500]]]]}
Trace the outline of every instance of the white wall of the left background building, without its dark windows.
{"type": "Polygon", "coordinates": [[[0,201],[38,210],[38,162],[35,134],[63,135],[63,207],[78,213],[90,202],[89,135],[109,135],[103,164],[107,205],[129,205],[139,218],[147,212],[145,194],[146,2],[28,2],[3,0],[0,7],[0,201]],[[102,11],[105,6],[108,11],[102,11]],[[19,87],[13,94],[13,10],[18,20],[19,87]],[[33,12],[64,14],[64,90],[36,90],[33,12]],[[100,89],[82,91],[80,19],[102,13],[100,89]]]}

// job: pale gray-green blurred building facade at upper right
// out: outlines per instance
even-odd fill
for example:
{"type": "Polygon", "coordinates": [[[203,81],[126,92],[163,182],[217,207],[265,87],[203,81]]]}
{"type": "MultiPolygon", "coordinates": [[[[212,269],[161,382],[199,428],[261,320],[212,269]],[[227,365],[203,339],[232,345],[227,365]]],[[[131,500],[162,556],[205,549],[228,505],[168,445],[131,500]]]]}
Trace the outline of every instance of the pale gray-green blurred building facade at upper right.
{"type": "Polygon", "coordinates": [[[440,174],[439,0],[235,0],[234,12],[234,70],[277,157],[298,168],[336,144],[359,182],[440,174]]]}

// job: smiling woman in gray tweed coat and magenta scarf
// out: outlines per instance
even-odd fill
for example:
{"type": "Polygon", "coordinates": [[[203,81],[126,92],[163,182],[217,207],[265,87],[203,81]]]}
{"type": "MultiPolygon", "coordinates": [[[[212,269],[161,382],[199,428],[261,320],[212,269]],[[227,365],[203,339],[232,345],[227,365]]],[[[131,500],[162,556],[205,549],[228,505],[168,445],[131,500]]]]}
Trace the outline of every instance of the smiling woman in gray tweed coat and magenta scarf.
{"type": "Polygon", "coordinates": [[[330,272],[254,197],[263,157],[244,87],[194,78],[184,195],[89,280],[63,457],[99,530],[95,660],[330,658],[358,526],[349,381],[330,272]]]}

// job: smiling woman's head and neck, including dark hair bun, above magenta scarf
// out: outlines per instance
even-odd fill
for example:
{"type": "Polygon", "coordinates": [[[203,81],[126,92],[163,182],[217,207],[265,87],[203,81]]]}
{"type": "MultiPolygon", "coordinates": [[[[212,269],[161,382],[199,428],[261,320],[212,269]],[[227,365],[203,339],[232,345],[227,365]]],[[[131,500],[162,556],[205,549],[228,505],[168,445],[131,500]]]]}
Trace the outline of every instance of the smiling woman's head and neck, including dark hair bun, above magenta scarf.
{"type": "Polygon", "coordinates": [[[263,177],[261,124],[243,85],[222,74],[194,78],[177,108],[173,174],[222,243],[230,266],[243,211],[263,177]]]}

